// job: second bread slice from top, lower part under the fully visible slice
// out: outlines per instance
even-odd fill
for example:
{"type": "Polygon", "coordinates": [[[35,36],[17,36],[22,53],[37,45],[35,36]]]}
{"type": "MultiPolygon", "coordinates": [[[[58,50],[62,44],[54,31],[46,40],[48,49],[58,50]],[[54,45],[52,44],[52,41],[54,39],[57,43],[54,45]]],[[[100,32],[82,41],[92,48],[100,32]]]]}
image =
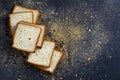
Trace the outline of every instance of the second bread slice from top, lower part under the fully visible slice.
{"type": "Polygon", "coordinates": [[[32,12],[20,12],[20,13],[13,13],[9,15],[9,20],[10,20],[10,29],[11,29],[11,33],[12,35],[14,35],[16,27],[17,27],[17,23],[20,21],[26,21],[26,22],[33,22],[33,14],[32,12]]]}

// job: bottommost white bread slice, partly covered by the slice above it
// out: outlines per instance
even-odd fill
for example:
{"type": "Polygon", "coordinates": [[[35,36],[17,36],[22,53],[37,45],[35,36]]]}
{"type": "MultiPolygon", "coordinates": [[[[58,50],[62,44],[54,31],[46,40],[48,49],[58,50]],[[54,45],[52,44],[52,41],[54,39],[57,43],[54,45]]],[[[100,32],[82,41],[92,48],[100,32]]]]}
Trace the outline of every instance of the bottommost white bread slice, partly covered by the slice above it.
{"type": "Polygon", "coordinates": [[[37,66],[37,67],[38,67],[39,69],[44,70],[44,71],[47,71],[47,72],[50,72],[50,73],[54,73],[54,71],[55,71],[58,63],[59,63],[60,60],[61,60],[62,55],[63,55],[63,54],[62,54],[61,52],[59,52],[59,51],[57,51],[57,50],[54,50],[50,67],[48,67],[48,68],[41,67],[41,66],[37,66]]]}

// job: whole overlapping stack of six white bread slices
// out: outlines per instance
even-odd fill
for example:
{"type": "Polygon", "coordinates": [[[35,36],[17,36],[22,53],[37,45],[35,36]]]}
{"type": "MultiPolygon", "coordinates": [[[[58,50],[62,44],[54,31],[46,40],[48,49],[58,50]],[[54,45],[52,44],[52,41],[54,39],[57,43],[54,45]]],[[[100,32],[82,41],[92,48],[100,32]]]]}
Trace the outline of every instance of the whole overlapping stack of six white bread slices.
{"type": "Polygon", "coordinates": [[[55,50],[55,42],[44,40],[46,26],[37,24],[39,15],[38,10],[15,4],[9,15],[12,47],[29,53],[27,61],[30,64],[53,73],[62,53],[55,50]]]}

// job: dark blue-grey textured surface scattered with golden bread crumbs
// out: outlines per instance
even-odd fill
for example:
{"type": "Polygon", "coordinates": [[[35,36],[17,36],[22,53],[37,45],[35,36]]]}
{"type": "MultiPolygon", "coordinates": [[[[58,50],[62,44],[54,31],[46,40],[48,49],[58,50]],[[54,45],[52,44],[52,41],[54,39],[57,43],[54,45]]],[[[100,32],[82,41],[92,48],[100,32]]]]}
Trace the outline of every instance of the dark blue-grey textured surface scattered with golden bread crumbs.
{"type": "Polygon", "coordinates": [[[120,80],[120,0],[0,0],[0,80],[120,80]],[[43,73],[11,47],[8,14],[14,3],[38,9],[46,38],[64,56],[43,73]]]}

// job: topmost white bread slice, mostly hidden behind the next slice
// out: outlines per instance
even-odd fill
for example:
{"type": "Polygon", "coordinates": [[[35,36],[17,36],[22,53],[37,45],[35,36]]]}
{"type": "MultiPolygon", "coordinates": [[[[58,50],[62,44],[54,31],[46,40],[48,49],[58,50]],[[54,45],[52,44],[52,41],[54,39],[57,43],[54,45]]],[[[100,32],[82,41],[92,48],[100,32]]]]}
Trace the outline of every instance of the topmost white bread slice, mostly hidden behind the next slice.
{"type": "Polygon", "coordinates": [[[39,16],[39,14],[40,14],[40,12],[39,12],[38,10],[34,10],[34,9],[30,9],[30,8],[25,8],[25,7],[22,7],[22,6],[20,6],[20,5],[15,4],[12,13],[16,13],[16,12],[26,12],[26,11],[31,11],[31,12],[33,12],[33,23],[37,23],[37,21],[38,21],[38,16],[39,16]]]}

